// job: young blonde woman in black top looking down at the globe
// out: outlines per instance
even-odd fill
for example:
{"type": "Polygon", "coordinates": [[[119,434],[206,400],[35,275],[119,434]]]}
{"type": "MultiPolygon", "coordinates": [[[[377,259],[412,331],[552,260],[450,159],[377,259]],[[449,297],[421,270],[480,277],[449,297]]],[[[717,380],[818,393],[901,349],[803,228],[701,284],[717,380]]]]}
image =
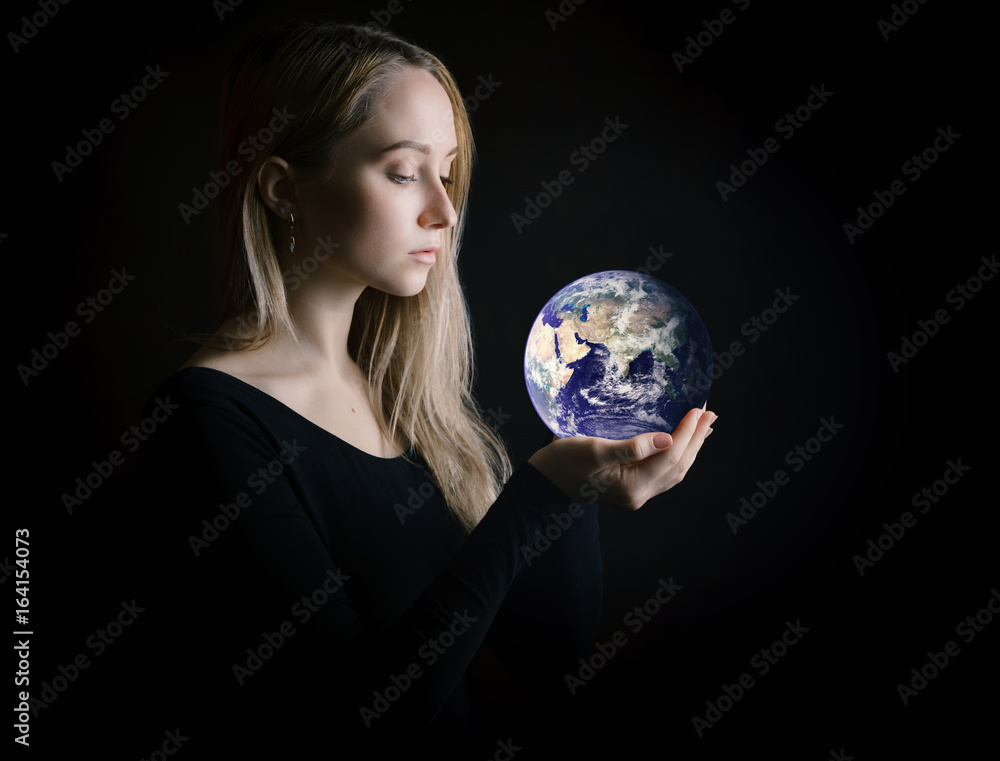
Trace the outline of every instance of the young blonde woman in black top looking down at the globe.
{"type": "Polygon", "coordinates": [[[384,31],[294,23],[225,87],[222,164],[241,171],[218,199],[222,325],[155,393],[177,408],[140,464],[168,568],[150,618],[174,632],[155,718],[216,753],[459,747],[485,642],[564,694],[590,652],[581,494],[641,507],[715,415],[554,440],[512,472],[472,397],[456,259],[473,144],[444,65],[384,31]]]}

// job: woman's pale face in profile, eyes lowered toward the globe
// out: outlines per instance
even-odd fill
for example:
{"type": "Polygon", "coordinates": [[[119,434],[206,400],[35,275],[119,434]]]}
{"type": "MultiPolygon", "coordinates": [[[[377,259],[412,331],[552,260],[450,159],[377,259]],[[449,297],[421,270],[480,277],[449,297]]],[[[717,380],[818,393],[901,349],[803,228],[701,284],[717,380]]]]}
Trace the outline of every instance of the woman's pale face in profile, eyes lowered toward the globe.
{"type": "Polygon", "coordinates": [[[408,66],[375,117],[342,144],[330,178],[297,184],[296,240],[311,241],[309,249],[317,237],[335,244],[324,266],[338,279],[397,296],[419,293],[444,230],[457,221],[442,179],[457,146],[444,88],[408,66]]]}

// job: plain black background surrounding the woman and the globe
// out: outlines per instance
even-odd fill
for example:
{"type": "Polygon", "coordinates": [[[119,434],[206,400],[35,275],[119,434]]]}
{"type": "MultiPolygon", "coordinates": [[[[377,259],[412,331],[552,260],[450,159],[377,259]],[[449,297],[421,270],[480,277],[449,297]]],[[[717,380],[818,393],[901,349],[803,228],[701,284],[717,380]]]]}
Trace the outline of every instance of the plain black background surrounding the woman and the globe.
{"type": "MultiPolygon", "coordinates": [[[[144,509],[131,493],[134,455],[72,515],[62,495],[92,461],[126,451],[120,436],[139,422],[143,401],[193,351],[173,343],[177,332],[215,327],[215,209],[185,224],[177,207],[219,168],[224,63],[289,16],[365,22],[374,11],[440,55],[467,95],[479,77],[500,83],[472,112],[479,162],[461,267],[478,398],[504,421],[515,462],[549,438],[524,387],[524,342],[538,310],[571,280],[639,268],[662,246],[671,256],[654,259],[653,274],[696,306],[717,352],[734,341],[744,349],[712,387],[720,419],[685,481],[638,513],[603,509],[599,639],[623,630],[629,641],[574,698],[573,720],[553,722],[553,745],[592,757],[651,744],[679,758],[794,759],[842,749],[858,759],[966,757],[984,738],[995,747],[1000,623],[968,644],[955,627],[1000,586],[988,330],[1000,283],[986,282],[961,310],[946,300],[996,250],[985,225],[995,195],[988,20],[968,4],[903,5],[917,10],[885,39],[877,22],[894,12],[889,3],[653,10],[587,0],[568,15],[574,6],[564,2],[553,29],[545,12],[559,12],[556,2],[413,0],[392,15],[383,2],[248,0],[222,19],[211,2],[81,2],[59,6],[16,53],[8,41],[0,245],[14,270],[16,423],[14,518],[0,557],[13,560],[13,527],[30,529],[33,685],[77,653],[92,655],[87,638],[122,600],[142,604],[129,570],[142,553],[134,537],[144,509]],[[732,23],[678,71],[672,54],[726,8],[732,23]],[[120,121],[110,104],[147,65],[169,76],[120,121]],[[833,95],[785,139],[776,122],[806,103],[811,86],[833,95]],[[106,117],[114,131],[58,181],[51,163],[106,117]],[[616,117],[627,129],[579,171],[573,152],[616,117]],[[961,137],[912,182],[904,162],[949,127],[961,137]],[[717,181],[768,137],[778,152],[723,201],[717,181]],[[562,170],[574,182],[515,231],[511,215],[562,170]],[[906,192],[849,242],[843,223],[894,180],[906,192]],[[83,324],[77,305],[122,268],[134,281],[83,324]],[[798,300],[751,342],[741,327],[786,288],[798,300]],[[887,353],[942,308],[948,322],[894,372],[887,353]],[[80,335],[25,384],[16,366],[69,320],[80,335]],[[831,417],[843,429],[793,472],[786,453],[831,417]],[[883,523],[914,512],[913,495],[959,458],[967,475],[860,576],[853,556],[883,523]],[[734,535],[726,514],[779,468],[788,485],[734,535]],[[671,577],[683,589],[633,634],[625,615],[671,577]],[[760,676],[751,659],[797,620],[808,633],[760,676]],[[904,706],[897,684],[949,640],[960,654],[904,706]],[[744,672],[755,686],[699,739],[692,717],[744,672]]],[[[9,3],[3,31],[20,33],[20,16],[37,12],[27,0],[9,3]]],[[[13,579],[0,586],[11,604],[13,579]]],[[[101,694],[115,653],[128,652],[116,645],[33,720],[21,755],[80,747],[75,711],[101,694]]],[[[155,671],[156,654],[128,667],[155,671]]],[[[102,757],[155,749],[116,739],[125,728],[115,702],[127,694],[102,699],[102,757]]],[[[509,735],[516,744],[517,727],[509,735]]]]}

